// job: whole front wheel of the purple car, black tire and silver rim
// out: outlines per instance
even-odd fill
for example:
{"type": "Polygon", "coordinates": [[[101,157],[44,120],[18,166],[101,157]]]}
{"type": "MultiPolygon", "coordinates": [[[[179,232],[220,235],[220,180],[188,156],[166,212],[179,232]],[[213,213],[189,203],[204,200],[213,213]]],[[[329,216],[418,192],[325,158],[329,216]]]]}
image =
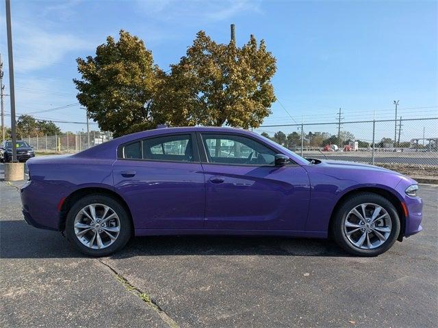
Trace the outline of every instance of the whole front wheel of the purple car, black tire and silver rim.
{"type": "Polygon", "coordinates": [[[375,193],[360,193],[346,200],[331,226],[335,241],[348,253],[377,256],[397,240],[400,218],[394,205],[375,193]]]}

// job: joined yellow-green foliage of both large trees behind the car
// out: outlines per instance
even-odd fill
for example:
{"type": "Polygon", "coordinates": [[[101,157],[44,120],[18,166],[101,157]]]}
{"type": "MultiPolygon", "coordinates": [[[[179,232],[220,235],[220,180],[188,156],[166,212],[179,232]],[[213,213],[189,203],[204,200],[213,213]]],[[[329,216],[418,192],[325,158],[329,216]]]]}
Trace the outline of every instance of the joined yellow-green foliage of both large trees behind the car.
{"type": "Polygon", "coordinates": [[[275,58],[253,36],[242,47],[218,44],[203,31],[170,72],[160,70],[144,42],[127,31],[111,36],[94,57],[77,59],[77,99],[115,136],[170,126],[258,127],[276,100],[275,58]]]}

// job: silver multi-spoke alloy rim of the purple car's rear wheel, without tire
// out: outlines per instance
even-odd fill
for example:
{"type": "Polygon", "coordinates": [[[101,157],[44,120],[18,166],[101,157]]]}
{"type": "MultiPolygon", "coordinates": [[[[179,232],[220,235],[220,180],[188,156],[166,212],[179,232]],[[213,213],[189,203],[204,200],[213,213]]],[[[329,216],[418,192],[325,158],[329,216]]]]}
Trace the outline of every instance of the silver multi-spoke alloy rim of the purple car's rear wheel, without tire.
{"type": "Polygon", "coordinates": [[[120,234],[117,213],[104,204],[90,204],[77,213],[74,222],[75,235],[90,249],[103,249],[112,245],[120,234]]]}

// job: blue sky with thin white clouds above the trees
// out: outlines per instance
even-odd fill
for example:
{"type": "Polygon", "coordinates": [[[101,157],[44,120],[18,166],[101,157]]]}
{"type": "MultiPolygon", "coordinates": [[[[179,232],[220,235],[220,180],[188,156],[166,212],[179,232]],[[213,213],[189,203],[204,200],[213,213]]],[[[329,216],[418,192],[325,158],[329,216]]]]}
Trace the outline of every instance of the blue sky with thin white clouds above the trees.
{"type": "MultiPolygon", "coordinates": [[[[3,3],[0,10],[8,90],[3,3]]],[[[300,122],[303,115],[306,122],[333,121],[339,107],[345,120],[370,119],[374,111],[376,118],[393,118],[394,99],[400,99],[404,118],[436,116],[437,12],[437,1],[12,0],[16,111],[77,102],[75,59],[93,55],[120,29],[142,38],[166,69],[185,54],[198,30],[229,42],[235,23],[238,44],[253,33],[277,59],[279,102],[264,124],[300,122]]],[[[83,122],[85,113],[77,105],[34,115],[83,122]]]]}

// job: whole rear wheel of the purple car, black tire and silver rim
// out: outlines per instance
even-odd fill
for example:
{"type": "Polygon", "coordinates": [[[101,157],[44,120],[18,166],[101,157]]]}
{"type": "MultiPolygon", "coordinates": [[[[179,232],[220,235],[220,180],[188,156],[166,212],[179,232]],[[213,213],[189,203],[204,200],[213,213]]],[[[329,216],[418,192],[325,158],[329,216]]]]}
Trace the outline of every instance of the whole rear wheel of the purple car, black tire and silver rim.
{"type": "Polygon", "coordinates": [[[107,195],[88,195],[68,211],[66,236],[83,254],[107,256],[120,250],[131,238],[127,210],[107,195]]]}

